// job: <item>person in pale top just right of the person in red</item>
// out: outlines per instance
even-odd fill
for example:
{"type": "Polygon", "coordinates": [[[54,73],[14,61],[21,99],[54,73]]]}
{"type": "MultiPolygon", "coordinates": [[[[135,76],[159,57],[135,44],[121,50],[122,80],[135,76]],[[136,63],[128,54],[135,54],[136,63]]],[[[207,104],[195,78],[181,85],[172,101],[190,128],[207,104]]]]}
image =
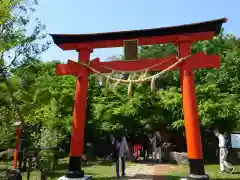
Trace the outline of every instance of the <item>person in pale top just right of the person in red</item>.
{"type": "Polygon", "coordinates": [[[162,161],[162,151],[161,151],[161,136],[159,132],[155,132],[153,138],[151,139],[154,151],[154,161],[159,163],[162,161]],[[158,157],[158,159],[157,159],[158,157]]]}

